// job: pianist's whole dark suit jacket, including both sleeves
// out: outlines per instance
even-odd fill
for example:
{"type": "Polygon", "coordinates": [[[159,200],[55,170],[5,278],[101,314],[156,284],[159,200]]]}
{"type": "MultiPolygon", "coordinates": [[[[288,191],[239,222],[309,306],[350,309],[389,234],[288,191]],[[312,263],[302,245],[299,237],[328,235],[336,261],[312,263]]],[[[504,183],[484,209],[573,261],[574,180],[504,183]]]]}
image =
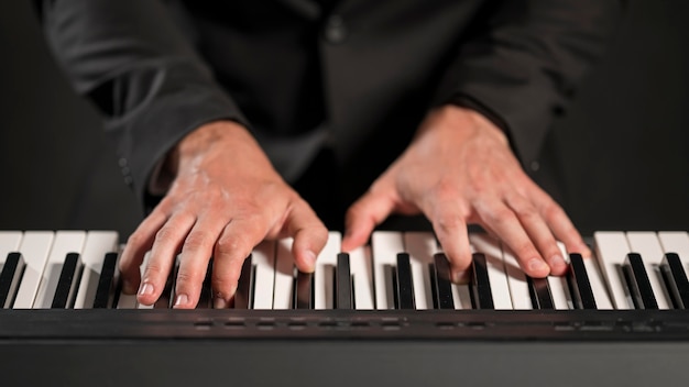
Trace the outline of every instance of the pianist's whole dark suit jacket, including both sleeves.
{"type": "Polygon", "coordinates": [[[620,2],[39,0],[140,198],[166,152],[218,119],[249,126],[287,180],[332,148],[354,191],[448,102],[488,115],[531,165],[620,2]]]}

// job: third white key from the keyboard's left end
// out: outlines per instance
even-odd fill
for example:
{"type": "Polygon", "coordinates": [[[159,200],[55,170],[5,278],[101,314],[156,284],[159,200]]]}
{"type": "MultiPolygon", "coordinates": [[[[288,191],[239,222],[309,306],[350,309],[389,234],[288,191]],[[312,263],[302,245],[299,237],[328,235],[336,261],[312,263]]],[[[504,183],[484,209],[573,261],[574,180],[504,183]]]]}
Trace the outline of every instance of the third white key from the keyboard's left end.
{"type": "Polygon", "coordinates": [[[65,257],[68,253],[81,254],[85,240],[86,232],[84,231],[57,231],[55,233],[55,242],[43,268],[41,285],[33,303],[34,309],[51,308],[65,257]]]}

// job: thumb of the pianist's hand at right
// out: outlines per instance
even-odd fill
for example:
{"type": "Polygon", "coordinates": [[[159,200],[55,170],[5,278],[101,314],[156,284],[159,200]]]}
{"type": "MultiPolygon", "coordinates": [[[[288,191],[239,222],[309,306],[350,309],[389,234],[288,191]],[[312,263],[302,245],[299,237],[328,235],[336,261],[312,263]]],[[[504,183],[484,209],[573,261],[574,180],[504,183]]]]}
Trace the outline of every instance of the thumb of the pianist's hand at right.
{"type": "Polygon", "coordinates": [[[376,225],[394,210],[395,201],[382,190],[369,191],[354,202],[344,218],[342,251],[352,251],[369,240],[376,225]]]}

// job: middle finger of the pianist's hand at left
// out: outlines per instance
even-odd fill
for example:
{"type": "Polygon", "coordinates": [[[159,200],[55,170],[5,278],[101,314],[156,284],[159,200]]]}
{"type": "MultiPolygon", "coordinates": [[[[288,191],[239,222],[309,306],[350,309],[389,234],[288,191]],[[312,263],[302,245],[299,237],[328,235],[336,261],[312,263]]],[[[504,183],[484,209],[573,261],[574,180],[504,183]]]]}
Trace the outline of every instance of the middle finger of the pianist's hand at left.
{"type": "Polygon", "coordinates": [[[223,229],[225,218],[199,218],[184,242],[175,284],[174,308],[193,309],[198,303],[208,262],[223,229]]]}

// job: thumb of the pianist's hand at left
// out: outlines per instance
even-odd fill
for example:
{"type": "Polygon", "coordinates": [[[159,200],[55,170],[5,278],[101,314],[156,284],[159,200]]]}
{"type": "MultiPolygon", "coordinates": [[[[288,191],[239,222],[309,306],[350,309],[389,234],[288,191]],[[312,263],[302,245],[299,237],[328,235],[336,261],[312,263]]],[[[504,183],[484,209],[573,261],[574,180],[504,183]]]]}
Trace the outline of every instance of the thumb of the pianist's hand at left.
{"type": "Polygon", "coordinates": [[[296,267],[304,273],[314,272],[316,257],[328,242],[328,229],[303,200],[294,206],[286,222],[286,229],[294,237],[292,255],[296,267]]]}

